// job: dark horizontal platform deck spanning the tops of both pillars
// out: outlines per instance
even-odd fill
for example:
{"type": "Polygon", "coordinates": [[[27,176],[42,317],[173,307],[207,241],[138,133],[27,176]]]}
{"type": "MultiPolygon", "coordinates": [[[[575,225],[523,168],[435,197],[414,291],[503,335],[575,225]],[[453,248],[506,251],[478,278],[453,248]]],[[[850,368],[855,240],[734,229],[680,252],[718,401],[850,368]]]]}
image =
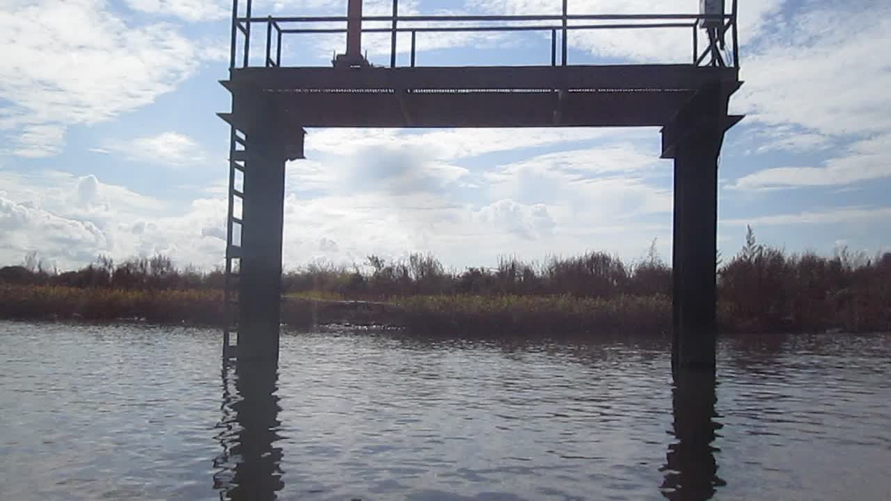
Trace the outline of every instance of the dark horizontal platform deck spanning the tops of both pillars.
{"type": "Polygon", "coordinates": [[[222,82],[235,127],[663,126],[735,68],[691,65],[243,68],[222,82]],[[274,113],[275,117],[270,117],[274,113]]]}

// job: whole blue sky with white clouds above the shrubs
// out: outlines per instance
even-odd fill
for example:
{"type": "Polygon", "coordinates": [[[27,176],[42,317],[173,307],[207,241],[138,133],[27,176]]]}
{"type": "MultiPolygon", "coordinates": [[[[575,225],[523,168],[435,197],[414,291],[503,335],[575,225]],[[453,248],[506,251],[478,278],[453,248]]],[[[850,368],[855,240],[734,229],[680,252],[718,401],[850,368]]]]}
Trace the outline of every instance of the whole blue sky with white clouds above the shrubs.
{"type": "MultiPolygon", "coordinates": [[[[696,0],[569,0],[570,13],[695,13],[696,0]]],[[[366,0],[365,13],[388,1],[366,0]]],[[[0,266],[164,253],[222,265],[228,0],[0,0],[0,266]]],[[[412,13],[559,13],[559,0],[402,0],[412,13]]],[[[346,0],[255,0],[343,15],[346,0]]],[[[261,33],[260,35],[265,35],[261,33]]],[[[255,38],[254,45],[260,46],[255,38]]],[[[741,79],[719,168],[718,243],[891,251],[891,2],[740,0],[741,79]]],[[[690,32],[572,32],[570,64],[687,62],[690,32]]],[[[287,36],[324,66],[340,36],[287,36]],[[305,37],[305,38],[301,38],[305,37]]],[[[400,39],[399,62],[407,62],[400,39]]],[[[388,63],[388,38],[366,37],[388,63]]],[[[549,64],[540,34],[418,36],[419,65],[549,64]]],[[[260,53],[256,54],[259,59],[260,53]]],[[[658,128],[309,129],[287,167],[284,266],[432,252],[447,267],[604,250],[671,257],[658,128]]]]}

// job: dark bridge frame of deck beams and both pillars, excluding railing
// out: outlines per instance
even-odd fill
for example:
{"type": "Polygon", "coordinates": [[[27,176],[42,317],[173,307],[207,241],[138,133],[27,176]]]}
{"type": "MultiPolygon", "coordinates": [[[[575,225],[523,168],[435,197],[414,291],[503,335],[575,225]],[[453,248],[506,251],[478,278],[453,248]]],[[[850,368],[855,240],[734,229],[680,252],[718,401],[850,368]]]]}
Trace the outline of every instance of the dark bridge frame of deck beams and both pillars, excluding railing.
{"type": "Polygon", "coordinates": [[[658,126],[674,159],[673,365],[714,371],[717,158],[740,119],[727,114],[738,70],[267,67],[222,84],[233,110],[220,116],[245,136],[238,357],[278,354],[284,164],[303,158],[304,127],[658,126]]]}

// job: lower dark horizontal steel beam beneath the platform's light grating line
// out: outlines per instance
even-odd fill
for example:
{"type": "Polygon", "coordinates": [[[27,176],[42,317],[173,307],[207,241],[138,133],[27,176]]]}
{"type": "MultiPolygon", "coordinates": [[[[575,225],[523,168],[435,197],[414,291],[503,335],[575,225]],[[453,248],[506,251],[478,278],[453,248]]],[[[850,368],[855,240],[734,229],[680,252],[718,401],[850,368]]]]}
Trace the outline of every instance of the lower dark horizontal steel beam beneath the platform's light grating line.
{"type": "MultiPolygon", "coordinates": [[[[658,127],[671,119],[690,92],[556,93],[254,93],[254,102],[293,110],[288,127],[658,127]],[[560,108],[560,121],[554,111],[560,108]]],[[[247,128],[256,115],[241,100],[231,115],[247,128]]]]}

